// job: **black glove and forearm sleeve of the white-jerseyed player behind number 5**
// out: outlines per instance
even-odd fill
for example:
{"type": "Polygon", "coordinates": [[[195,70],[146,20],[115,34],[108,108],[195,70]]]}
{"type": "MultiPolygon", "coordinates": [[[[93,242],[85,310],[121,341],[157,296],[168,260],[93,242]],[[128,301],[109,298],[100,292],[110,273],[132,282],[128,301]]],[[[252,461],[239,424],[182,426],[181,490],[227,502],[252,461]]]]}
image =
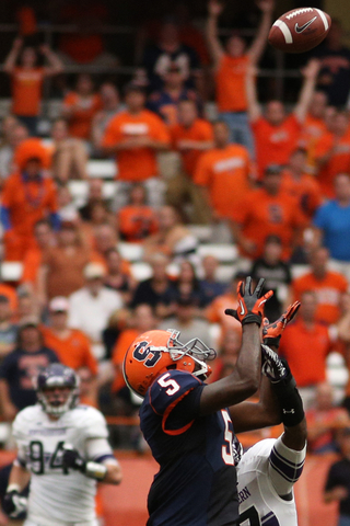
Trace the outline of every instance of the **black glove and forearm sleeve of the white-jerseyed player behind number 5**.
{"type": "Polygon", "coordinates": [[[287,427],[298,425],[304,420],[303,401],[296,388],[295,379],[288,362],[267,345],[262,350],[262,374],[271,382],[281,410],[281,421],[287,427]]]}

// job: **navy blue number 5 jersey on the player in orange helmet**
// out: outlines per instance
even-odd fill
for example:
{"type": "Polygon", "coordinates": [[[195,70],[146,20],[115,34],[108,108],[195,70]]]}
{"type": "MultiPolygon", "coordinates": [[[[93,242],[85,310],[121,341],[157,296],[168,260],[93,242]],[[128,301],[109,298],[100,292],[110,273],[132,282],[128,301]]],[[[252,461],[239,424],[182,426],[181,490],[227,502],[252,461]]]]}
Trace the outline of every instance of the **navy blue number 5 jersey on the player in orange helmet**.
{"type": "Polygon", "coordinates": [[[238,518],[233,427],[226,410],[200,416],[202,389],[190,373],[168,370],[148,389],[141,430],[160,464],[148,526],[235,526],[238,518]]]}

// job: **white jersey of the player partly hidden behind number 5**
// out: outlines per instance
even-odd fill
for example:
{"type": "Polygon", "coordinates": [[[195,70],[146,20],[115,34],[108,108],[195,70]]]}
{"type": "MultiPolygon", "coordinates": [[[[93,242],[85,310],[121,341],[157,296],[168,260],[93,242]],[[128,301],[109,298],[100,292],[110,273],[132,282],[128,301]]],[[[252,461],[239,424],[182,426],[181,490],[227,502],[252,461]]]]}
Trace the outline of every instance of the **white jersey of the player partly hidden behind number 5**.
{"type": "Polygon", "coordinates": [[[237,466],[242,526],[298,526],[293,484],[301,476],[306,446],[289,449],[279,437],[250,447],[237,466]],[[291,500],[280,495],[290,493],[291,500]]]}

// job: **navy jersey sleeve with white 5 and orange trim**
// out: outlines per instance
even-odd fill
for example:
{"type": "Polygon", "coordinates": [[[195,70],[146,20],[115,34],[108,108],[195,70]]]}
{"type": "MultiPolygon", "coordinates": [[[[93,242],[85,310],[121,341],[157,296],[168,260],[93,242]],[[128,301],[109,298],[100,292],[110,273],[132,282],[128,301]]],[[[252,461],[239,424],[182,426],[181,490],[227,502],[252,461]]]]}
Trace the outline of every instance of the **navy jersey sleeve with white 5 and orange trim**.
{"type": "Polygon", "coordinates": [[[162,416],[165,433],[183,433],[191,425],[199,412],[203,387],[198,378],[182,370],[164,373],[154,381],[149,393],[150,404],[162,416]]]}

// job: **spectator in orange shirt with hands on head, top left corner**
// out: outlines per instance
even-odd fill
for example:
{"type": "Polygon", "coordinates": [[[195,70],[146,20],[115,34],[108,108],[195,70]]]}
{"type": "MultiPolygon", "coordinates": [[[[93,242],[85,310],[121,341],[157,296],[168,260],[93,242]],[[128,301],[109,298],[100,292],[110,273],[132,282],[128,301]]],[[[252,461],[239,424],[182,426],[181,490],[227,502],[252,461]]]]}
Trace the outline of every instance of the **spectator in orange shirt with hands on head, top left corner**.
{"type": "Polygon", "coordinates": [[[47,59],[48,66],[38,67],[35,49],[33,47],[22,49],[22,46],[23,39],[15,38],[3,64],[3,70],[12,78],[12,113],[28,128],[31,135],[36,135],[43,81],[45,77],[63,71],[63,65],[48,46],[43,45],[40,53],[47,59]],[[16,66],[21,49],[20,66],[16,66]]]}

